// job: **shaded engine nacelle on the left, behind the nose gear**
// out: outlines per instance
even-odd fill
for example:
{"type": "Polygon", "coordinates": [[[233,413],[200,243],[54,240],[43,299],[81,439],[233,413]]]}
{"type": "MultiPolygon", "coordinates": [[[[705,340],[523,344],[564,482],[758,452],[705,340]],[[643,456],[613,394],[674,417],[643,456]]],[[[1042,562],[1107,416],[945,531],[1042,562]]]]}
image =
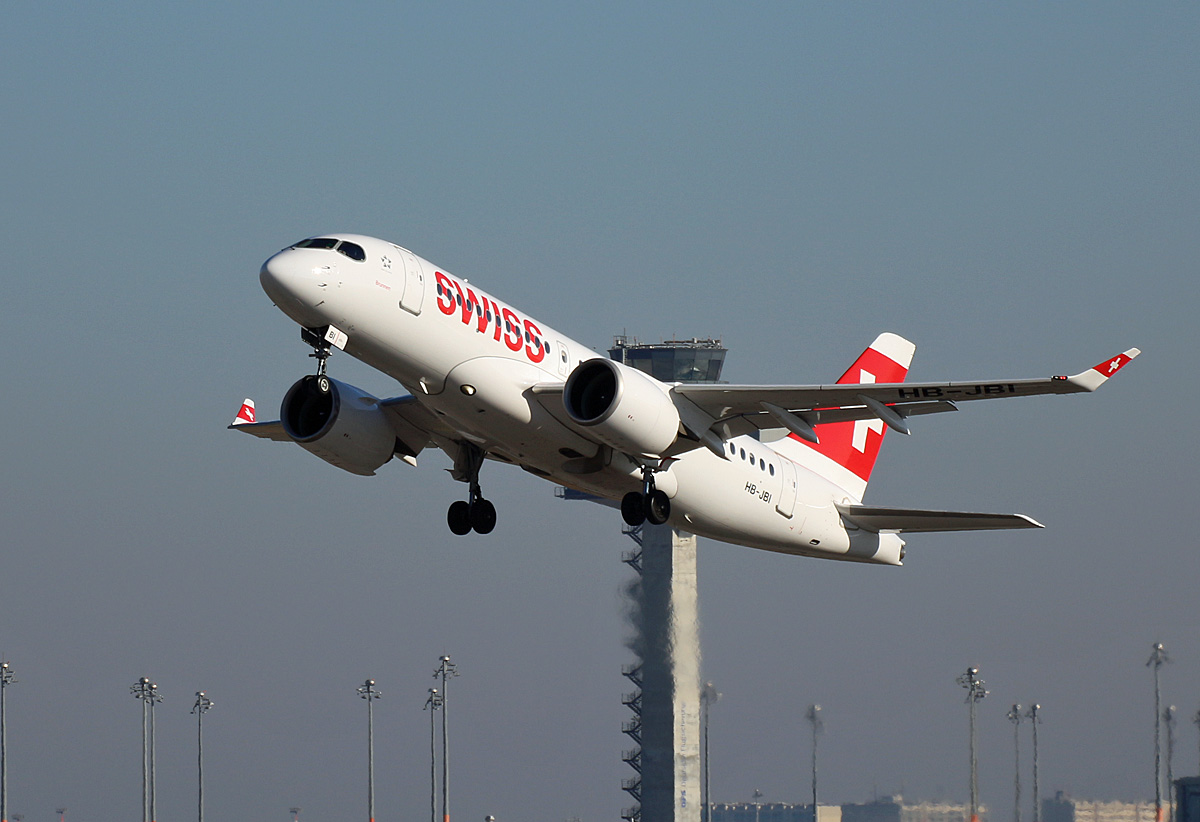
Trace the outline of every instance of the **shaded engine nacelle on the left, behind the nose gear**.
{"type": "Polygon", "coordinates": [[[295,443],[342,470],[373,476],[396,451],[396,431],[379,400],[353,385],[304,377],[288,389],[280,408],[283,430],[295,443]]]}

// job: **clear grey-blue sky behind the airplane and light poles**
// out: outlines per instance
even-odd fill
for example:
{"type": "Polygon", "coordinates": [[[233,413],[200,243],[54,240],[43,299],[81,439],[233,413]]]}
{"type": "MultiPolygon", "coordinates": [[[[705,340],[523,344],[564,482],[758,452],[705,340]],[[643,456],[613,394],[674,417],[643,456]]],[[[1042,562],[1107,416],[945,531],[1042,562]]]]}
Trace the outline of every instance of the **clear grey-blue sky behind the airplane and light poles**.
{"type": "Polygon", "coordinates": [[[803,798],[816,701],[830,800],[964,800],[967,665],[997,818],[1014,701],[1044,706],[1045,792],[1152,797],[1153,642],[1168,701],[1200,708],[1198,40],[1192,4],[7,10],[10,810],[134,816],[146,674],[162,818],[193,809],[199,689],[212,818],[365,812],[370,676],[377,817],[425,812],[443,653],[456,816],[628,804],[613,512],[490,466],[500,526],[454,539],[437,455],[362,480],[224,430],[311,367],[256,275],[328,230],[596,348],[718,336],[734,382],[828,379],[881,330],[917,343],[914,379],[1141,347],[1096,396],[889,438],[868,502],[1045,532],[913,538],[904,569],[714,542],[700,564],[715,799],[803,798]]]}

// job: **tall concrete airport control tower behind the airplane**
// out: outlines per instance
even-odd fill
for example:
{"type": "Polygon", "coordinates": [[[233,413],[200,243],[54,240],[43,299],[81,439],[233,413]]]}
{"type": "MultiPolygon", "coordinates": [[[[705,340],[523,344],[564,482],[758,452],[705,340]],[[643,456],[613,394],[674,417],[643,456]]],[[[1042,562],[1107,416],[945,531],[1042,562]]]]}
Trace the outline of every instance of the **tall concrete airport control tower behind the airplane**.
{"type": "MultiPolygon", "coordinates": [[[[719,340],[654,344],[617,337],[610,356],[665,383],[720,380],[726,349],[719,340]]],[[[630,587],[636,655],[624,674],[636,690],[623,731],[636,744],[623,758],[636,772],[622,787],[636,805],[630,822],[700,822],[700,613],[696,538],[671,526],[625,528],[637,545],[623,559],[638,574],[630,587]]]]}

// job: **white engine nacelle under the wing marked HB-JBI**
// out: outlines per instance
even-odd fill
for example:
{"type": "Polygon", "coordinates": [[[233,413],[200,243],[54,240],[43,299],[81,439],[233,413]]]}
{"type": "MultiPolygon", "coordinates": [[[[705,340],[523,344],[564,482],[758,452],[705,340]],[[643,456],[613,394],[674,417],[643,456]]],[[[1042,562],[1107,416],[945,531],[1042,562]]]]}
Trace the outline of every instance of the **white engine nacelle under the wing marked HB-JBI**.
{"type": "Polygon", "coordinates": [[[563,388],[563,406],[578,425],[618,451],[656,457],[679,436],[679,412],[666,386],[613,360],[584,360],[563,388]]]}

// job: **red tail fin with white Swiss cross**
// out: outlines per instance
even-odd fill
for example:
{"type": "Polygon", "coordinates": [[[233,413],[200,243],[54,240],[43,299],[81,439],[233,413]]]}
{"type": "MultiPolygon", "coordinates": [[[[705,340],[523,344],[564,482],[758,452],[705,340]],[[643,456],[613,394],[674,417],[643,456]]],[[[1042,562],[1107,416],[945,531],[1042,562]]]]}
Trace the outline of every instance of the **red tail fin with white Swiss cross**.
{"type": "MultiPolygon", "coordinates": [[[[901,336],[881,334],[846,370],[838,384],[902,383],[916,349],[901,336]]],[[[887,426],[880,419],[827,422],[816,426],[820,444],[790,434],[785,440],[772,443],[772,446],[845,490],[854,502],[862,502],[886,432],[887,426]]]]}

